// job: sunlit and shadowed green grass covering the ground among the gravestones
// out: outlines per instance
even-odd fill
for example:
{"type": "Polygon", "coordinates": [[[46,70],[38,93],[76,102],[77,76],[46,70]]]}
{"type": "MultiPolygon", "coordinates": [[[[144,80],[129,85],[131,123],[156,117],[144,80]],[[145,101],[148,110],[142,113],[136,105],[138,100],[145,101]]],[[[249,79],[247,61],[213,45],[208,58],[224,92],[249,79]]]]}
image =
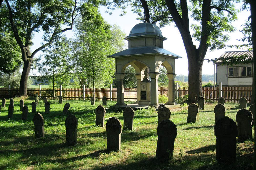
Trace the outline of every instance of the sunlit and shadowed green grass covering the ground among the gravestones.
{"type": "MultiPolygon", "coordinates": [[[[214,104],[205,104],[200,110],[199,121],[187,124],[187,107],[173,112],[171,120],[177,126],[173,160],[163,163],[155,158],[157,144],[157,113],[154,110],[135,111],[134,130],[121,134],[121,150],[106,151],[105,127],[95,126],[95,109],[89,101],[50,100],[50,114],[44,114],[42,100],[37,112],[44,116],[45,137],[36,139],[34,134],[32,100],[24,99],[29,107],[28,120],[22,121],[19,100],[14,101],[14,115],[8,120],[8,104],[0,114],[0,169],[252,169],[253,140],[237,141],[237,162],[219,165],[216,161],[214,136],[214,104]],[[71,113],[78,118],[78,143],[66,145],[66,115],[62,109],[70,103],[71,113]]],[[[108,106],[115,102],[108,101],[108,106]]],[[[238,104],[226,104],[226,115],[235,120],[238,104]]],[[[123,113],[106,109],[105,123],[117,117],[123,124],[123,113]]]]}

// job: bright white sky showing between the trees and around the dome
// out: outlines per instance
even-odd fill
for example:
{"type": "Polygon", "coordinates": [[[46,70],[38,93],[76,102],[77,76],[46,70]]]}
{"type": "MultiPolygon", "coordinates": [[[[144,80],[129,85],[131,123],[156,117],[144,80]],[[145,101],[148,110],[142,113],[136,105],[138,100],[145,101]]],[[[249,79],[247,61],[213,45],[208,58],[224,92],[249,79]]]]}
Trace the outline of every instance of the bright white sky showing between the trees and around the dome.
{"type": "MultiPolygon", "coordinates": [[[[237,5],[236,8],[240,9],[241,5],[237,5]]],[[[105,13],[107,10],[106,7],[100,7],[100,13],[103,16],[104,20],[108,22],[109,24],[118,25],[122,31],[125,32],[126,36],[129,35],[130,30],[133,28],[134,25],[141,23],[141,21],[136,20],[138,17],[136,14],[133,14],[133,12],[128,8],[126,11],[127,13],[124,16],[119,16],[121,14],[121,10],[116,9],[113,12],[112,15],[109,15],[108,13],[105,13]]],[[[237,45],[237,44],[243,44],[243,42],[239,42],[238,39],[243,37],[240,30],[242,29],[241,25],[248,19],[248,16],[250,16],[250,11],[242,11],[238,15],[238,20],[234,21],[232,24],[234,25],[236,31],[232,33],[227,33],[230,35],[230,40],[227,42],[229,45],[237,45]]],[[[192,22],[192,21],[190,21],[192,22]]],[[[158,24],[156,24],[159,26],[158,24]]],[[[167,38],[167,40],[164,41],[164,49],[177,54],[181,56],[181,59],[176,59],[176,70],[175,73],[177,75],[188,75],[188,60],[187,55],[185,51],[185,47],[182,41],[182,38],[180,36],[180,33],[178,31],[178,28],[175,27],[174,23],[170,23],[170,25],[166,25],[164,28],[161,28],[162,35],[167,38]]],[[[193,32],[190,32],[191,34],[193,32]]],[[[73,36],[73,32],[66,31],[66,36],[68,38],[71,38],[73,36]]],[[[32,47],[32,50],[38,48],[40,46],[40,38],[42,34],[37,33],[35,34],[34,38],[34,46],[32,47]]],[[[128,44],[128,41],[125,40],[125,42],[128,44]]],[[[198,42],[193,41],[194,44],[198,47],[198,42]]],[[[128,46],[128,45],[127,45],[128,46]]],[[[216,49],[214,51],[207,51],[205,58],[207,59],[214,59],[220,57],[225,51],[239,51],[243,49],[236,49],[236,48],[224,48],[224,49],[216,49]]],[[[39,52],[36,56],[39,56],[42,54],[39,52]]],[[[216,71],[216,69],[215,69],[216,71]]],[[[30,75],[39,75],[36,70],[31,71],[30,75]]],[[[214,74],[214,65],[212,62],[207,62],[207,60],[204,60],[203,67],[202,67],[202,74],[214,74]]]]}

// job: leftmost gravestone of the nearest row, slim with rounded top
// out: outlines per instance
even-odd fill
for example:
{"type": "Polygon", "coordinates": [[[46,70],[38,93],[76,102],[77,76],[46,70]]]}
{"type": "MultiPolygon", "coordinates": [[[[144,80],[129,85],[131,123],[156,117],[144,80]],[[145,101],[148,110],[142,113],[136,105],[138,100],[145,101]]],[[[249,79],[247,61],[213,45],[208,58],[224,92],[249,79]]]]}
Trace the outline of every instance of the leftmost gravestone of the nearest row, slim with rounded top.
{"type": "Polygon", "coordinates": [[[33,122],[35,125],[35,135],[36,138],[43,138],[45,137],[45,130],[44,130],[44,117],[40,113],[36,113],[33,122]]]}

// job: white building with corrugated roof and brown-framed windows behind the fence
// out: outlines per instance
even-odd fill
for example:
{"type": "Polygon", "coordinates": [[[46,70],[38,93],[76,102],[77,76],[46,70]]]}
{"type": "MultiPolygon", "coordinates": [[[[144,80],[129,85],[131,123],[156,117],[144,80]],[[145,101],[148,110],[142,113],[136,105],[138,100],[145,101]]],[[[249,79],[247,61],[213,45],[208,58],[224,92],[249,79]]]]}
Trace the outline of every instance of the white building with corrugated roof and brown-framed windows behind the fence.
{"type": "Polygon", "coordinates": [[[215,62],[217,85],[221,82],[224,86],[251,86],[252,58],[252,51],[226,51],[222,54],[215,62]],[[223,61],[228,64],[223,64],[223,61]],[[234,61],[237,64],[231,64],[234,61]]]}

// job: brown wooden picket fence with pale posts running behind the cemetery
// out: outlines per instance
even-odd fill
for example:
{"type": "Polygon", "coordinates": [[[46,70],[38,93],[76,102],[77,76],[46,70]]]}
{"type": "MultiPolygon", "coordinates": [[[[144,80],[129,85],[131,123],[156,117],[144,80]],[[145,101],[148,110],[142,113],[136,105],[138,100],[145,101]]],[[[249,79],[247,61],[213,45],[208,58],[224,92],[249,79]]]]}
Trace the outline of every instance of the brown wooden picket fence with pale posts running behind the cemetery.
{"type": "MultiPolygon", "coordinates": [[[[0,97],[16,97],[18,96],[19,89],[13,88],[1,88],[0,97]]],[[[158,93],[168,97],[168,87],[158,87],[158,93]]],[[[39,88],[28,88],[28,96],[39,96],[39,88]]],[[[179,87],[178,96],[183,96],[188,94],[188,87],[179,87]]],[[[55,89],[55,96],[60,95],[60,89],[55,89]]],[[[222,97],[225,98],[226,102],[238,102],[239,98],[245,97],[248,102],[251,101],[252,86],[240,87],[240,86],[222,86],[222,97]]],[[[53,90],[49,88],[41,89],[41,96],[46,96],[49,99],[53,98],[53,90]]],[[[81,88],[66,88],[62,89],[63,99],[66,100],[82,100],[83,89],[81,88]]],[[[85,89],[85,98],[89,99],[93,96],[93,89],[85,89]]],[[[102,97],[106,96],[110,99],[110,88],[95,88],[95,99],[102,100],[102,97]]],[[[217,101],[219,98],[219,87],[203,87],[203,97],[206,100],[217,101]]],[[[116,88],[112,89],[112,100],[116,101],[116,88]]],[[[137,88],[124,88],[124,100],[125,101],[136,101],[137,99],[137,88]]]]}

